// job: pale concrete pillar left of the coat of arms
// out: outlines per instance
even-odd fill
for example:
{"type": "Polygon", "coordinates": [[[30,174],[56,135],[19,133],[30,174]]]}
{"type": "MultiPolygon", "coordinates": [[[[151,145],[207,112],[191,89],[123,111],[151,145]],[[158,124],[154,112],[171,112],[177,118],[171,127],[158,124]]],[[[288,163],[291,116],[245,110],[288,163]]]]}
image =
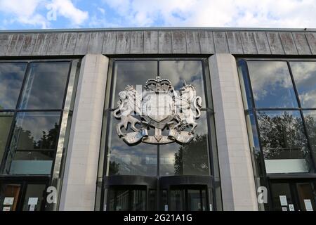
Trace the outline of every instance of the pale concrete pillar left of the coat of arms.
{"type": "Polygon", "coordinates": [[[109,59],[81,62],[59,210],[94,210],[109,59]]]}

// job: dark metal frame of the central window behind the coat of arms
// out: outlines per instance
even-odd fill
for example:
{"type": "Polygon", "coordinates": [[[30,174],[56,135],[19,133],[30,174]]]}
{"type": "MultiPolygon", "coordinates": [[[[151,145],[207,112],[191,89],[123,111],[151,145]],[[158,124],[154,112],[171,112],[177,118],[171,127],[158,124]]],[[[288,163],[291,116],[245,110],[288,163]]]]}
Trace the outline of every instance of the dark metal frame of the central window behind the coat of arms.
{"type": "MultiPolygon", "coordinates": [[[[216,143],[216,131],[215,131],[215,124],[214,122],[210,122],[210,120],[214,120],[212,117],[215,114],[213,111],[213,99],[211,95],[211,77],[209,75],[209,61],[208,58],[205,56],[201,57],[148,57],[148,58],[110,58],[109,62],[109,70],[107,72],[107,84],[106,84],[106,91],[105,91],[105,104],[103,109],[103,131],[101,134],[101,143],[100,143],[100,153],[99,153],[99,162],[98,162],[98,179],[102,180],[102,187],[105,186],[105,177],[107,176],[107,157],[109,156],[109,148],[107,146],[107,140],[109,139],[110,134],[110,120],[111,114],[116,108],[111,108],[112,101],[114,101],[113,94],[114,94],[114,65],[117,61],[133,61],[133,60],[140,60],[140,61],[147,61],[147,60],[156,60],[157,61],[157,73],[159,75],[159,62],[164,60],[197,60],[202,63],[202,79],[203,79],[203,88],[204,88],[204,101],[205,101],[205,108],[202,108],[202,111],[206,112],[206,120],[207,122],[207,131],[208,131],[208,139],[207,139],[207,146],[208,146],[208,157],[209,157],[209,176],[213,177],[213,179],[217,179],[219,176],[218,174],[218,153],[217,153],[217,143],[216,143]],[[209,96],[210,95],[210,96],[209,96]],[[212,123],[212,124],[211,124],[212,123]],[[214,143],[215,142],[215,143],[214,143]],[[215,153],[214,153],[215,152],[215,153]],[[216,155],[216,157],[214,157],[216,155]],[[214,162],[216,160],[216,162],[214,162]],[[215,168],[216,167],[216,168],[215,168]],[[214,178],[216,176],[216,178],[214,178]]],[[[144,81],[145,82],[145,81],[144,81]]],[[[115,106],[115,105],[114,105],[115,106]]],[[[160,152],[159,152],[159,145],[157,145],[157,177],[160,176],[160,152]]],[[[215,180],[214,180],[215,182],[215,180]]],[[[157,191],[157,196],[160,195],[160,188],[154,189],[157,191]]],[[[105,189],[101,188],[100,199],[97,198],[96,195],[96,203],[100,201],[100,204],[97,203],[96,205],[100,205],[100,208],[96,208],[96,210],[103,210],[104,209],[104,199],[105,199],[105,189]]],[[[212,199],[214,204],[214,209],[216,210],[216,193],[215,188],[212,191],[212,199]]],[[[157,198],[157,208],[159,208],[160,200],[157,198]]],[[[221,203],[218,203],[221,204],[221,203]]]]}

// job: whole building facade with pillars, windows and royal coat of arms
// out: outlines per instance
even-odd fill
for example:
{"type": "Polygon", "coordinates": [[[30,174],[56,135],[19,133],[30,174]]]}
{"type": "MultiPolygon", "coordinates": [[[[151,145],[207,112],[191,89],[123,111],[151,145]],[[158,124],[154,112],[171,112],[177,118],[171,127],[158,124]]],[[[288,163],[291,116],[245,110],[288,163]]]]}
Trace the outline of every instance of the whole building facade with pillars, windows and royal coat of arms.
{"type": "Polygon", "coordinates": [[[2,31],[0,162],[1,211],[316,210],[316,30],[2,31]]]}

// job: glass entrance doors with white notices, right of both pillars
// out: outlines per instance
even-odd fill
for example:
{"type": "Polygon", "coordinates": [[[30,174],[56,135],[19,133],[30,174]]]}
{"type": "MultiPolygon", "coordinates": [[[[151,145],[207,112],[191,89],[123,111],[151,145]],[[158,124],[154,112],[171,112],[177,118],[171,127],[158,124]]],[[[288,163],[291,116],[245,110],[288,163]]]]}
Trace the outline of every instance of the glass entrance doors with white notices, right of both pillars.
{"type": "Polygon", "coordinates": [[[315,211],[315,181],[271,181],[273,210],[315,211]]]}

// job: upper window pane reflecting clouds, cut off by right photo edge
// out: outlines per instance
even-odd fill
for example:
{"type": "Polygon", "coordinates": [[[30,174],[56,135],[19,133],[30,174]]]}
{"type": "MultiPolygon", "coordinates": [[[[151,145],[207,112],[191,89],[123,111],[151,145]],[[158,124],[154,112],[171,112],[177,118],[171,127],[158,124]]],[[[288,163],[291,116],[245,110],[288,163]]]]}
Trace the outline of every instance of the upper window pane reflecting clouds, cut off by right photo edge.
{"type": "Polygon", "coordinates": [[[316,108],[316,62],[291,62],[291,70],[303,108],[316,108]]]}

